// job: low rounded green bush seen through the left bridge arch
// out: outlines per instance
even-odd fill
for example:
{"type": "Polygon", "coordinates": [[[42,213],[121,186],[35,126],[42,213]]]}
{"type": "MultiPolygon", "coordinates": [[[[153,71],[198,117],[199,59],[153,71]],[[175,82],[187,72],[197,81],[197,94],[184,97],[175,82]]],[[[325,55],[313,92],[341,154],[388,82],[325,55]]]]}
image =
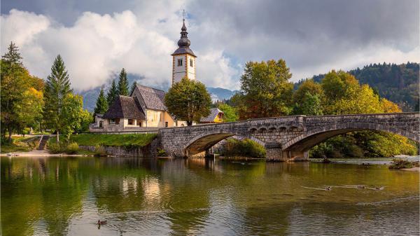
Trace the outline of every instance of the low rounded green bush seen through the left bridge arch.
{"type": "Polygon", "coordinates": [[[235,157],[265,158],[265,148],[251,139],[226,139],[224,155],[235,157]]]}

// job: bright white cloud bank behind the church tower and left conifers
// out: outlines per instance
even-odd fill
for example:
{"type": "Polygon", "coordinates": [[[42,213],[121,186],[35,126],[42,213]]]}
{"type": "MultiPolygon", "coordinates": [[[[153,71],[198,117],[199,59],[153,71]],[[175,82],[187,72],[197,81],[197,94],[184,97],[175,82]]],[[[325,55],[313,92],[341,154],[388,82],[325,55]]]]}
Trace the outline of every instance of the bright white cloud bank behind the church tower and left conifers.
{"type": "MultiPolygon", "coordinates": [[[[155,6],[154,6],[155,7],[155,6]]],[[[31,74],[46,78],[60,54],[77,90],[103,85],[125,67],[144,77],[142,83],[164,86],[172,78],[181,19],[175,6],[160,15],[139,18],[132,11],[99,15],[85,12],[73,25],[57,24],[45,15],[12,10],[1,16],[1,53],[14,41],[31,74]],[[169,32],[172,30],[172,32],[169,32]]],[[[144,11],[142,8],[141,11],[144,11]]],[[[193,48],[194,50],[194,48],[193,48]]],[[[222,51],[207,50],[197,60],[197,76],[206,85],[234,88],[237,70],[222,51]],[[233,86],[233,87],[232,87],[233,86]]]]}

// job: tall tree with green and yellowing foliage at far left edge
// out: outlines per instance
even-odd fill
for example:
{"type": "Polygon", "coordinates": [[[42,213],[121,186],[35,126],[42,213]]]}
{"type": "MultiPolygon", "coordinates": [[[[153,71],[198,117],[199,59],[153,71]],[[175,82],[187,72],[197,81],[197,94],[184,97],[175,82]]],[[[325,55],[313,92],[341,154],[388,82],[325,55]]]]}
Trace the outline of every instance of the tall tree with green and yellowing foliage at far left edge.
{"type": "Polygon", "coordinates": [[[1,136],[21,131],[41,119],[43,94],[39,91],[43,81],[30,76],[23,67],[22,56],[13,42],[1,57],[1,136]],[[36,89],[38,88],[38,90],[36,89]]]}

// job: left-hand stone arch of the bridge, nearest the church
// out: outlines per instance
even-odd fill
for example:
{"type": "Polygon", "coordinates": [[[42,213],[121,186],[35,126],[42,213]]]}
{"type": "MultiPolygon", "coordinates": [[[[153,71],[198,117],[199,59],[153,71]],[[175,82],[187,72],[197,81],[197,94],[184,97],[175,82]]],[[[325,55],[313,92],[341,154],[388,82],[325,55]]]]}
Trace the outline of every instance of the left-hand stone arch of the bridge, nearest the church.
{"type": "Polygon", "coordinates": [[[190,139],[187,144],[183,146],[183,153],[184,155],[195,155],[197,153],[201,153],[202,151],[206,151],[207,149],[211,148],[219,141],[226,139],[232,136],[240,136],[246,139],[251,139],[256,141],[258,144],[262,146],[265,145],[263,141],[260,139],[256,139],[255,137],[249,134],[242,134],[237,132],[224,132],[224,131],[212,131],[212,132],[204,132],[203,134],[197,135],[193,139],[190,139]]]}

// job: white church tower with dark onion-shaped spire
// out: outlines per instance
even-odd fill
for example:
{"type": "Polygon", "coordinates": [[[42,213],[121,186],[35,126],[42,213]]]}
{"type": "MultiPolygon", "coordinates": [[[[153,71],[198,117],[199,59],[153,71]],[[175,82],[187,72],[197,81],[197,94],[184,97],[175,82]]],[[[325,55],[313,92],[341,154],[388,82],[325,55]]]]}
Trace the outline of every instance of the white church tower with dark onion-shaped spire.
{"type": "Polygon", "coordinates": [[[190,39],[187,37],[186,20],[183,19],[179,48],[172,53],[172,84],[181,81],[183,77],[195,80],[195,54],[190,49],[190,39]]]}

